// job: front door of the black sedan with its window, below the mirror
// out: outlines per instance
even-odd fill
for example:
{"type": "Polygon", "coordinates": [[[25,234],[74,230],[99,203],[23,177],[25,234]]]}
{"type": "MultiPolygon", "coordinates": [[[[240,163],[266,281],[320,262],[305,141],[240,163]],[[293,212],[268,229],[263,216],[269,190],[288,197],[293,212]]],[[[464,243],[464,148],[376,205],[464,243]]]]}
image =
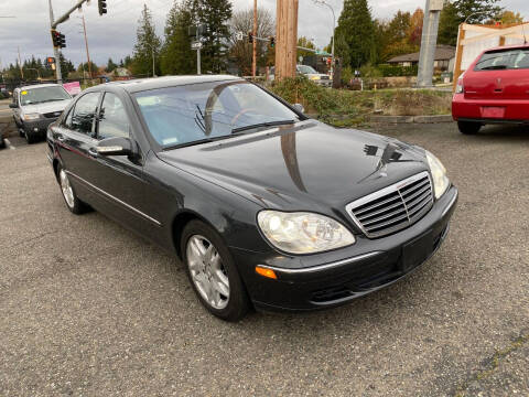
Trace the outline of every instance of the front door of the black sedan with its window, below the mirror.
{"type": "Polygon", "coordinates": [[[127,98],[121,95],[111,92],[104,94],[96,117],[96,141],[127,138],[132,141],[138,154],[97,155],[90,152],[93,160],[90,183],[105,200],[101,211],[129,228],[151,235],[158,232],[161,223],[149,213],[145,197],[143,163],[147,153],[138,143],[131,128],[131,115],[126,107],[127,98]]]}

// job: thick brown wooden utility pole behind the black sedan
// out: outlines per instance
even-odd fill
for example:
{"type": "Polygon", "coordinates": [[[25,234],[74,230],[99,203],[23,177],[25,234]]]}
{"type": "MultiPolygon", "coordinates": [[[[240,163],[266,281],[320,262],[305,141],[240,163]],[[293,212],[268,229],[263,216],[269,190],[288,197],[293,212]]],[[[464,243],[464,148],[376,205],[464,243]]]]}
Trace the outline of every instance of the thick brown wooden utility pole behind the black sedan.
{"type": "Polygon", "coordinates": [[[277,0],[276,78],[295,77],[299,0],[277,0]]]}

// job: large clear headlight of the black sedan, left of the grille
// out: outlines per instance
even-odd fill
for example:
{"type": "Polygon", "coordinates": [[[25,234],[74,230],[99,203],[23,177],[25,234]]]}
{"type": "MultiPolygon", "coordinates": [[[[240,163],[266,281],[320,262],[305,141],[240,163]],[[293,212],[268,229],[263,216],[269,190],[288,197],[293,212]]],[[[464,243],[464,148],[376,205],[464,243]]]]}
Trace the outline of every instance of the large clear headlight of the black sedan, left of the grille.
{"type": "Polygon", "coordinates": [[[321,253],[356,242],[345,226],[319,214],[261,211],[257,222],[274,247],[290,254],[321,253]]]}

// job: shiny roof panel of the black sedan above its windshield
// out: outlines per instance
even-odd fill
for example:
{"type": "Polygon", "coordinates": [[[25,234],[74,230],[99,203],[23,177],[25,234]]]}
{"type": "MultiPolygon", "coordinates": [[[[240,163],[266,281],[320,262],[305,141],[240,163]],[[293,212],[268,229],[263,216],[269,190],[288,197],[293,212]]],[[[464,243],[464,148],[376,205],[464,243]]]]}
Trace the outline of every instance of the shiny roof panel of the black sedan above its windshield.
{"type": "Polygon", "coordinates": [[[90,90],[105,89],[105,86],[120,87],[129,93],[138,93],[142,90],[175,87],[188,84],[226,82],[226,81],[242,81],[242,78],[230,75],[192,75],[192,76],[164,76],[139,78],[131,81],[119,81],[98,85],[90,90]]]}

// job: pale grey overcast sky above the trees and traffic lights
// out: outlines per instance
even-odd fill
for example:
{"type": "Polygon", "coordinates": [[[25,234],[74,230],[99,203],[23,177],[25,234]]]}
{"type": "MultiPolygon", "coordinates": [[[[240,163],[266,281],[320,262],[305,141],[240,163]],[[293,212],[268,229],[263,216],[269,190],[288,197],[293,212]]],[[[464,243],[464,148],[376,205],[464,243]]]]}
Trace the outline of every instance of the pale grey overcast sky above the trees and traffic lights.
{"type": "MultiPolygon", "coordinates": [[[[77,0],[53,0],[55,17],[63,14],[77,0]]],[[[108,13],[99,17],[97,0],[84,7],[90,58],[97,64],[106,64],[108,57],[119,61],[132,52],[136,40],[137,21],[142,4],[151,9],[156,32],[163,33],[165,17],[173,0],[107,0],[108,13]]],[[[252,7],[251,0],[233,0],[235,10],[252,7]]],[[[334,8],[336,18],[342,11],[342,0],[327,0],[334,8]]],[[[397,10],[413,11],[424,7],[425,0],[370,0],[375,18],[390,18],[397,10]]],[[[276,13],[276,0],[258,0],[259,7],[276,13]]],[[[500,4],[529,18],[529,0],[503,0],[500,4]]],[[[17,60],[20,47],[22,60],[32,54],[39,57],[52,55],[50,37],[50,13],[47,0],[0,0],[0,68],[17,60]]],[[[82,13],[74,12],[69,21],[58,30],[66,35],[67,47],[64,55],[75,65],[86,60],[83,40],[82,13]]],[[[317,46],[328,43],[333,29],[333,17],[328,8],[317,6],[313,0],[300,0],[299,35],[314,39],[317,46]]]]}

